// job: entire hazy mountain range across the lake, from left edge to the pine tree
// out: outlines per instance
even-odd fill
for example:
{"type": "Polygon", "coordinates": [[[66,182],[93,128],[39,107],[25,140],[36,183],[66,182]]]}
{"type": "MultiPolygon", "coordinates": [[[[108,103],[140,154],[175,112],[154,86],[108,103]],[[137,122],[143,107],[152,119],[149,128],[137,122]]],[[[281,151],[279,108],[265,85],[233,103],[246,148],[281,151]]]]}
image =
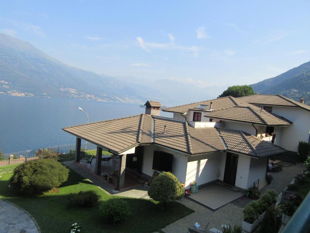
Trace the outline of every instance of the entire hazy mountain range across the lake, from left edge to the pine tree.
{"type": "Polygon", "coordinates": [[[30,43],[0,34],[0,94],[126,103],[152,99],[172,106],[216,98],[226,88],[98,75],[68,66],[30,43]]]}

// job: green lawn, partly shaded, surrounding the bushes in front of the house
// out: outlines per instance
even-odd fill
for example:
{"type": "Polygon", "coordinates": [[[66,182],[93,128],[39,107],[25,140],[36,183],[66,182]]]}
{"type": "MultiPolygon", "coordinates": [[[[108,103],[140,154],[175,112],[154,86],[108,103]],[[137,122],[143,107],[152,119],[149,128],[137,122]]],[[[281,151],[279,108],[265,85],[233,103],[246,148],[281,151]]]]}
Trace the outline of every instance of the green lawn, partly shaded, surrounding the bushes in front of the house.
{"type": "Polygon", "coordinates": [[[82,226],[82,233],[154,232],[160,231],[170,223],[193,212],[193,210],[177,202],[169,203],[163,211],[162,205],[155,201],[124,198],[129,203],[132,214],[127,220],[113,226],[107,223],[99,208],[100,203],[112,198],[112,196],[75,171],[70,170],[69,179],[58,188],[58,193],[50,191],[36,197],[23,197],[17,196],[8,188],[8,180],[16,166],[18,165],[0,167],[0,172],[4,173],[0,180],[0,197],[28,211],[37,221],[42,233],[70,232],[70,226],[75,222],[82,226]],[[69,207],[68,195],[78,193],[81,190],[93,190],[99,194],[101,196],[100,203],[94,208],[69,207]]]}

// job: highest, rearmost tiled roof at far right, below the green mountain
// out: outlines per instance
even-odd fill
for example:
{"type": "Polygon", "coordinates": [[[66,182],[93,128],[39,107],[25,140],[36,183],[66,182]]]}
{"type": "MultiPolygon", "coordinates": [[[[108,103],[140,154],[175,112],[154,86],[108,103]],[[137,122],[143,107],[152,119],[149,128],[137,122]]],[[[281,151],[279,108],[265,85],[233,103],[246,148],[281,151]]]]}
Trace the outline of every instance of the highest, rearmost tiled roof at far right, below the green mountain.
{"type": "Polygon", "coordinates": [[[287,98],[282,95],[249,95],[237,98],[247,103],[252,104],[266,104],[266,105],[275,105],[275,106],[288,106],[288,107],[300,107],[305,110],[310,111],[310,106],[307,104],[300,103],[293,99],[287,98]]]}

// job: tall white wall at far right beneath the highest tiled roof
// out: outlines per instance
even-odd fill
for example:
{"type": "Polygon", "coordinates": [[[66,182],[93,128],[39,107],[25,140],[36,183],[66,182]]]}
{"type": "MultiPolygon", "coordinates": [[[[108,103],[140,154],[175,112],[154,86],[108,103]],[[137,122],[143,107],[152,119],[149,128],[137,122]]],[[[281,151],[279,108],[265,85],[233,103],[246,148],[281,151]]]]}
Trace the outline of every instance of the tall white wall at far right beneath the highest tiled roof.
{"type": "Polygon", "coordinates": [[[299,141],[308,142],[309,140],[310,112],[299,107],[274,106],[272,107],[272,113],[293,122],[288,127],[282,127],[279,146],[297,152],[299,141]]]}

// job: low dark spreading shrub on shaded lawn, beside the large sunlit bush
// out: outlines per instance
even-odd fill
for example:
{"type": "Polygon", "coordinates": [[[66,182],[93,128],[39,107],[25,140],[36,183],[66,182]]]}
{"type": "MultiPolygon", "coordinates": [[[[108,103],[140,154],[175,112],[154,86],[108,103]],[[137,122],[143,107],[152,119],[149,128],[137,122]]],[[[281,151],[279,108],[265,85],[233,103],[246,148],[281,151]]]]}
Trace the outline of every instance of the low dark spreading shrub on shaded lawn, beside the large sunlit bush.
{"type": "Polygon", "coordinates": [[[80,191],[78,194],[69,194],[69,205],[78,207],[93,207],[98,203],[100,195],[97,195],[94,191],[80,191]]]}

